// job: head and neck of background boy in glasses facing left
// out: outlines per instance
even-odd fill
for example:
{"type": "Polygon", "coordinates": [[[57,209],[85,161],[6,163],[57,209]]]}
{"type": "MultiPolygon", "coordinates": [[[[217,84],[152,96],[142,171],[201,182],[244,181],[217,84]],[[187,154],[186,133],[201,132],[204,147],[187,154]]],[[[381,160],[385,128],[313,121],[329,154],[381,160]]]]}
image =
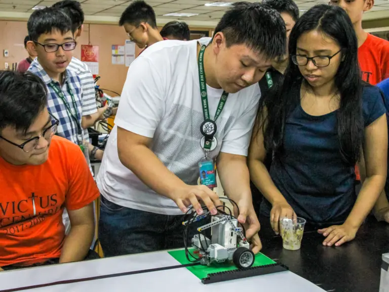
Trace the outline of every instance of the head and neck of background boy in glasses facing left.
{"type": "Polygon", "coordinates": [[[139,49],[146,49],[164,40],[157,27],[154,10],[142,0],[137,0],[126,8],[119,25],[124,27],[130,40],[139,49]]]}

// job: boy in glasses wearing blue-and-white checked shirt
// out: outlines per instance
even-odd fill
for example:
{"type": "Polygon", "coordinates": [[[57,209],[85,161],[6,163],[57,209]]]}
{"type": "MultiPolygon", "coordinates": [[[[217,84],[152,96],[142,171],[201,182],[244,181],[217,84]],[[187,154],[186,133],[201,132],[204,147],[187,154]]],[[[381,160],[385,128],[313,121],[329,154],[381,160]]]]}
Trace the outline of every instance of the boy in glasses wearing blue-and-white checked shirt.
{"type": "Polygon", "coordinates": [[[47,86],[49,112],[60,121],[58,135],[82,145],[82,86],[80,77],[67,68],[76,45],[71,20],[60,9],[48,7],[35,10],[27,28],[27,47],[37,54],[28,70],[47,86]]]}

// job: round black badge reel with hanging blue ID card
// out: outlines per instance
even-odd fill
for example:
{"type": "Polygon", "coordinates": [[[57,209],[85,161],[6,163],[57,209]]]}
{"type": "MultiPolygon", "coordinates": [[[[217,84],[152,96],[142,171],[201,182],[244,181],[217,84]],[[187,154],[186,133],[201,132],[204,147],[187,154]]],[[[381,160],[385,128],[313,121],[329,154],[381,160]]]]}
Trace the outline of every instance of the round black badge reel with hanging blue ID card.
{"type": "Polygon", "coordinates": [[[204,121],[201,124],[200,131],[203,134],[200,143],[205,151],[205,157],[199,162],[200,182],[212,190],[217,187],[216,172],[213,160],[208,157],[208,154],[217,146],[217,140],[214,137],[216,123],[210,120],[204,121]]]}

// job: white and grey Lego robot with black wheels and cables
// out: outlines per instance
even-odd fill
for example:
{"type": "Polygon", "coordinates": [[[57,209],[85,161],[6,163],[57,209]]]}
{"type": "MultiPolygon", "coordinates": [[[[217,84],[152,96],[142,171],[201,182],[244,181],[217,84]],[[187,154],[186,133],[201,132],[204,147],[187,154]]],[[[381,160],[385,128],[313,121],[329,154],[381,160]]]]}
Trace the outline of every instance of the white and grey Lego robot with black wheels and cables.
{"type": "MultiPolygon", "coordinates": [[[[199,253],[197,261],[200,261],[202,265],[232,261],[239,269],[250,268],[254,264],[255,255],[250,250],[250,244],[242,232],[243,229],[238,227],[238,219],[232,216],[231,212],[227,214],[218,211],[216,215],[211,215],[208,210],[205,210],[202,215],[195,215],[182,224],[190,226],[208,217],[211,217],[211,222],[197,228],[198,234],[191,239],[195,253],[199,253]],[[211,228],[211,239],[202,234],[202,231],[209,228],[211,228]],[[240,239],[239,243],[238,239],[240,239]]],[[[185,251],[190,261],[186,242],[185,251]]],[[[191,257],[195,258],[193,255],[191,257]]]]}

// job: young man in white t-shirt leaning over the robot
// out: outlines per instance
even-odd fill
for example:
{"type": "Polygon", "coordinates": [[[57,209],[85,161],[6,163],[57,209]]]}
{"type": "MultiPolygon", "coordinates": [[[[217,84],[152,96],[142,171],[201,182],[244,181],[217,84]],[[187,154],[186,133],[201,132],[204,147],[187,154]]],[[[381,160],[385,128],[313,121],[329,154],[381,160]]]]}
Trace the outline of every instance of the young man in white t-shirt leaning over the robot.
{"type": "Polygon", "coordinates": [[[207,145],[252,250],[260,250],[246,156],[258,81],[285,47],[280,14],[242,3],[225,13],[212,40],[158,42],[131,64],[96,179],[106,257],[182,247],[188,207],[201,213],[204,203],[216,213],[217,195],[197,185],[207,145]]]}

